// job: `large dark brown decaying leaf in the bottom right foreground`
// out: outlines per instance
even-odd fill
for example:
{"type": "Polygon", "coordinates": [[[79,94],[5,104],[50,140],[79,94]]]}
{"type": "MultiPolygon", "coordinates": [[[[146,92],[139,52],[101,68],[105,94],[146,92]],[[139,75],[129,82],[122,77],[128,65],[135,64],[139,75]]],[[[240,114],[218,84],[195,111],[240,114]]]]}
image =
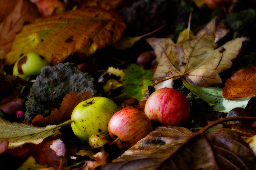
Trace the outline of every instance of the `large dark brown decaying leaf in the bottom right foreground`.
{"type": "Polygon", "coordinates": [[[230,129],[195,135],[184,127],[162,126],[102,169],[255,169],[255,161],[247,143],[230,129]]]}

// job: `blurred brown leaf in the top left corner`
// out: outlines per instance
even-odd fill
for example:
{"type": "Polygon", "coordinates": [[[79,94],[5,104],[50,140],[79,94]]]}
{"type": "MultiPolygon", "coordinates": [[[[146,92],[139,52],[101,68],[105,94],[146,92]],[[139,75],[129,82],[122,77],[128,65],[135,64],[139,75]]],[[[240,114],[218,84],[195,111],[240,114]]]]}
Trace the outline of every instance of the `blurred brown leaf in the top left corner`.
{"type": "Polygon", "coordinates": [[[12,12],[0,24],[0,59],[11,51],[12,42],[23,26],[40,17],[37,7],[30,1],[16,0],[15,4],[12,12]]]}

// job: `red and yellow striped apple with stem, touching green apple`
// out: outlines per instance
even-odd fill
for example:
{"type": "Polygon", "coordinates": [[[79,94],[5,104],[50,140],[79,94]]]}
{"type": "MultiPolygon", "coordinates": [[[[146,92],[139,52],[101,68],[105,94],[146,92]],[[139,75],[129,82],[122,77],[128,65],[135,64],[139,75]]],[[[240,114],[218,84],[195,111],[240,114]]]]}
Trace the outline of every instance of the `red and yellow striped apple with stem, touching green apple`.
{"type": "Polygon", "coordinates": [[[153,131],[151,120],[136,108],[123,108],[109,120],[108,132],[117,148],[127,150],[153,131]]]}

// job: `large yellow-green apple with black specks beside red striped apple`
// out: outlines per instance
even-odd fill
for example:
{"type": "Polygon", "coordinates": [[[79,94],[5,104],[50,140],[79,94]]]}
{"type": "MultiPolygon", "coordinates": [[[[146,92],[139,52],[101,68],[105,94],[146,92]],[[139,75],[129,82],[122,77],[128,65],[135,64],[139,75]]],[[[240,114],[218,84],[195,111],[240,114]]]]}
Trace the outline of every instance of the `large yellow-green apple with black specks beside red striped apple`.
{"type": "Polygon", "coordinates": [[[119,110],[107,97],[92,97],[79,103],[71,114],[72,130],[81,142],[89,142],[91,135],[108,134],[108,122],[119,110]]]}

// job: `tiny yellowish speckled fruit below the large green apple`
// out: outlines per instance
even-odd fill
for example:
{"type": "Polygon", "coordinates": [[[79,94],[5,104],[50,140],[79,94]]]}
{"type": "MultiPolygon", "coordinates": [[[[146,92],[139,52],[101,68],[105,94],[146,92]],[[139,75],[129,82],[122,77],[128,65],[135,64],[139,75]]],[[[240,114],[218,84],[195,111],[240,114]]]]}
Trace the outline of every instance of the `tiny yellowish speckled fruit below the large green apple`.
{"type": "Polygon", "coordinates": [[[110,143],[111,143],[110,137],[108,137],[105,134],[101,134],[101,133],[93,134],[89,138],[89,145],[92,148],[99,148],[105,144],[110,144],[110,143]]]}

